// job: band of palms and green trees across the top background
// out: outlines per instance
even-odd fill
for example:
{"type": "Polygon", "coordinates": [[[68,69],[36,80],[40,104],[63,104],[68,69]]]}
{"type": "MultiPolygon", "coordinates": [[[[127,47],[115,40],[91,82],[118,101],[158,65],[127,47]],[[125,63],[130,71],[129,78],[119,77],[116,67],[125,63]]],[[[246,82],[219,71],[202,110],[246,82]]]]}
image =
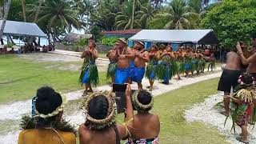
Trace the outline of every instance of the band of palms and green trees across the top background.
{"type": "Polygon", "coordinates": [[[254,0],[12,0],[7,19],[36,22],[53,42],[74,29],[100,42],[102,31],[207,28],[226,47],[255,30],[255,7],[254,0]]]}

